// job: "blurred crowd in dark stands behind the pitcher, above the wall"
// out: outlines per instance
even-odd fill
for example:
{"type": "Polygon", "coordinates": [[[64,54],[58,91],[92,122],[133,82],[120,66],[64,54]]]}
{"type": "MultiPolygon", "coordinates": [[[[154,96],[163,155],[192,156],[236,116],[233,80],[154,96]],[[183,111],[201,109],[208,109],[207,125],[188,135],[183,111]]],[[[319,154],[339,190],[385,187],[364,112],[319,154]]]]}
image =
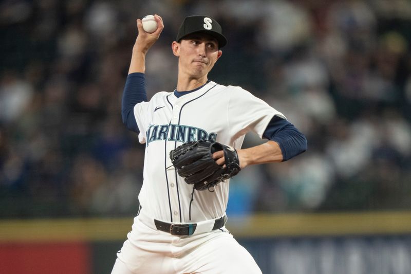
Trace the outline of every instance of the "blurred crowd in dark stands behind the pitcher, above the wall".
{"type": "Polygon", "coordinates": [[[155,13],[149,98],[176,86],[182,19],[208,14],[228,38],[209,79],[264,99],[308,139],[306,153],[234,177],[229,214],[411,208],[411,2],[5,0],[0,217],[136,214],[145,147],[121,96],[136,19],[155,13]]]}

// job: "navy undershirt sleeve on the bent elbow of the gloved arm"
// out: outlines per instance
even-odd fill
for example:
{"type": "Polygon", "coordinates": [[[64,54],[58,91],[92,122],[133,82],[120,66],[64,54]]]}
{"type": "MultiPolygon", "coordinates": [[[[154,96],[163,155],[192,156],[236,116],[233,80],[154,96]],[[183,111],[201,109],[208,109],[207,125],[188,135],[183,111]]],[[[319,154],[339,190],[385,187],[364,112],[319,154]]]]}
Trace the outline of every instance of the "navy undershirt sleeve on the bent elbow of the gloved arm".
{"type": "Polygon", "coordinates": [[[279,144],[283,154],[283,161],[303,153],[307,150],[307,139],[293,124],[286,119],[274,116],[263,137],[279,144]]]}

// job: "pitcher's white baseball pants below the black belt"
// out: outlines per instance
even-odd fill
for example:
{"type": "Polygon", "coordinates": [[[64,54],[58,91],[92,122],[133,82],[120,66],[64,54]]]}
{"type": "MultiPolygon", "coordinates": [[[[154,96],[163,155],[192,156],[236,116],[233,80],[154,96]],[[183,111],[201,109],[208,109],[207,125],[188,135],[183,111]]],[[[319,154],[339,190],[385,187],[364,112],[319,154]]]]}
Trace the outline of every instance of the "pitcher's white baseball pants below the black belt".
{"type": "MultiPolygon", "coordinates": [[[[150,223],[150,222],[149,222],[150,223]]],[[[134,219],[111,274],[261,273],[250,253],[225,227],[191,236],[158,231],[134,219]]]]}

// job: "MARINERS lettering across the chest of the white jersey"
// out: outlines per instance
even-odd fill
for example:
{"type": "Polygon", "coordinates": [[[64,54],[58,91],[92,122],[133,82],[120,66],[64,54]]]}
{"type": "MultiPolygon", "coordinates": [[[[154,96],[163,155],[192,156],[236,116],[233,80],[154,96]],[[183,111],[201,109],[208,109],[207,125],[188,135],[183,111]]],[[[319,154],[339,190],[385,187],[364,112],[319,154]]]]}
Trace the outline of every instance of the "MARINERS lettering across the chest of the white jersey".
{"type": "Polygon", "coordinates": [[[147,146],[152,141],[169,140],[178,141],[182,143],[197,141],[197,140],[209,140],[215,142],[217,134],[212,132],[208,133],[198,127],[181,125],[181,124],[162,124],[148,126],[145,132],[147,146]]]}

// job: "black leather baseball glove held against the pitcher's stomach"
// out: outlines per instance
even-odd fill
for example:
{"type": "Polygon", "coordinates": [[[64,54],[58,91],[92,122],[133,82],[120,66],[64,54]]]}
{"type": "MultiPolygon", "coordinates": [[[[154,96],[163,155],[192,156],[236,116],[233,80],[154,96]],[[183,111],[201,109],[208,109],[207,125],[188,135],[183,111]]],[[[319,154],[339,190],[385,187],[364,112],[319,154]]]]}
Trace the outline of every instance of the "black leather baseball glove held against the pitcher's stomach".
{"type": "Polygon", "coordinates": [[[206,140],[184,143],[170,152],[170,158],[178,174],[196,190],[210,189],[241,170],[234,148],[206,140]],[[212,158],[213,153],[220,150],[224,152],[225,167],[217,165],[212,158]]]}

